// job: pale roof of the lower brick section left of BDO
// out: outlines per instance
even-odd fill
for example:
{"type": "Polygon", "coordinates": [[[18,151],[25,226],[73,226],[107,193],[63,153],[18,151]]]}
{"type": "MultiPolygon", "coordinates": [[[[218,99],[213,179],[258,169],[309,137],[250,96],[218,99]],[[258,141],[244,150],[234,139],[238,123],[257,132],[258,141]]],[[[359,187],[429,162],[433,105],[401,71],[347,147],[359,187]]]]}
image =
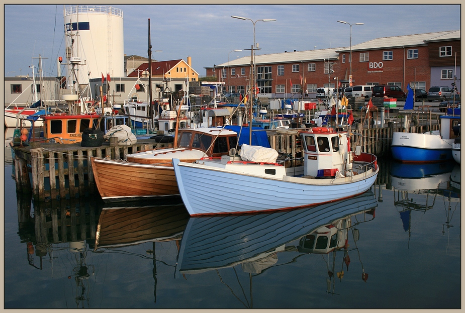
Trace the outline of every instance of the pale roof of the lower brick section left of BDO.
{"type": "MultiPolygon", "coordinates": [[[[336,48],[340,49],[340,48],[336,48]]],[[[307,51],[294,51],[285,53],[273,53],[255,55],[255,64],[272,64],[272,63],[291,63],[301,61],[322,61],[322,60],[337,60],[339,53],[336,53],[334,48],[307,50],[307,51]]],[[[242,57],[239,59],[229,61],[229,66],[250,65],[250,56],[242,57]]],[[[228,62],[216,65],[215,67],[228,66],[228,62]]],[[[205,67],[205,68],[213,68],[205,67]]]]}

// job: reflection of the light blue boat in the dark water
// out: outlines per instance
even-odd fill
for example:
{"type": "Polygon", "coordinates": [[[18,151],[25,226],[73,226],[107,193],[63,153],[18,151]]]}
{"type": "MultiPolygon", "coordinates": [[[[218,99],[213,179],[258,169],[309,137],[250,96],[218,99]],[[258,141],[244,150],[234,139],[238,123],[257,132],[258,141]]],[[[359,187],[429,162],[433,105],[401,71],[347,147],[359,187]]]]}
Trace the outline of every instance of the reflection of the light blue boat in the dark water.
{"type": "MultiPolygon", "coordinates": [[[[375,194],[368,190],[345,200],[287,212],[191,217],[182,236],[175,277],[241,264],[251,279],[252,274],[275,265],[277,253],[287,251],[328,254],[343,249],[348,266],[349,229],[358,216],[363,222],[372,220],[377,205],[375,194]],[[297,245],[292,243],[299,239],[297,245]]],[[[338,277],[341,275],[343,271],[338,277]]]]}

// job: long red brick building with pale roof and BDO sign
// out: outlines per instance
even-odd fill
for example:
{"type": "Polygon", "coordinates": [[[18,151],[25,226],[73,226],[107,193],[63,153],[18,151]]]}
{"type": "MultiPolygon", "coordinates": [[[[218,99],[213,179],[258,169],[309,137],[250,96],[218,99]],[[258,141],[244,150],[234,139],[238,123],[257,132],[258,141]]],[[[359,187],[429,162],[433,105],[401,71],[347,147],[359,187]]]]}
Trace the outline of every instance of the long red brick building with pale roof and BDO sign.
{"type": "MultiPolygon", "coordinates": [[[[349,85],[350,47],[255,56],[257,87],[270,98],[315,96],[317,87],[349,85]],[[303,85],[304,88],[301,86],[303,85]]],[[[460,80],[460,31],[385,37],[352,46],[353,85],[407,85],[428,90],[460,80]]],[[[246,92],[251,57],[207,67],[207,76],[225,82],[224,91],[246,92]]],[[[460,90],[460,89],[459,89],[460,90]]]]}

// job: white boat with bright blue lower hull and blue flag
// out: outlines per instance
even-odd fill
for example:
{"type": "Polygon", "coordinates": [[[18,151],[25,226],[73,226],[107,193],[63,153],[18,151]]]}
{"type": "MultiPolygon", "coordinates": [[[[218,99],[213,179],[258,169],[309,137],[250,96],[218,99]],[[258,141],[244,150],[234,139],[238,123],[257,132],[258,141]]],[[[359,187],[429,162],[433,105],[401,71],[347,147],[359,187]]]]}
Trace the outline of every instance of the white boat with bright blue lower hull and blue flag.
{"type": "MultiPolygon", "coordinates": [[[[413,92],[410,85],[404,110],[413,109],[413,92]]],[[[439,117],[440,129],[426,133],[394,132],[391,152],[394,159],[405,163],[433,163],[451,160],[452,144],[458,136],[453,128],[460,124],[460,108],[448,109],[439,117]]]]}

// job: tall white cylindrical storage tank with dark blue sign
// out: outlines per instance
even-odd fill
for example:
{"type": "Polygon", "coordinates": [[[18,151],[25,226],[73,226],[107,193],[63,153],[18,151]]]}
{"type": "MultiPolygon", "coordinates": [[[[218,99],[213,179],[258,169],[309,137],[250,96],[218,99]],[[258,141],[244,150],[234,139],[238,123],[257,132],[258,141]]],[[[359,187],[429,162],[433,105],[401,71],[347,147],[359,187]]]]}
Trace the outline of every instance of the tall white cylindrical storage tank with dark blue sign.
{"type": "MultiPolygon", "coordinates": [[[[107,73],[124,77],[123,11],[111,6],[69,6],[63,14],[65,57],[79,68],[79,84],[102,74],[106,78],[107,73]]],[[[68,77],[71,68],[68,65],[68,77]]]]}

